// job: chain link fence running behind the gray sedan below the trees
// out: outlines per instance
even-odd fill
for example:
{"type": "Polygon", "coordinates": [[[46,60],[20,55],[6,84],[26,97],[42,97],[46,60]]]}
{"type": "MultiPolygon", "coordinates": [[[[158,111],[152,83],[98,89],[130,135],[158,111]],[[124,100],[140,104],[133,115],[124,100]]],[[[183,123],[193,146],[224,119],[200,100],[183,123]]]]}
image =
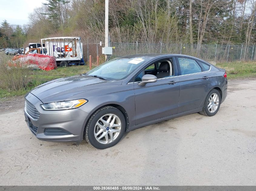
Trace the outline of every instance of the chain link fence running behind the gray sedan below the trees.
{"type": "MultiPolygon", "coordinates": [[[[97,56],[100,63],[105,62],[105,55],[102,54],[102,47],[105,43],[86,43],[83,44],[83,54],[85,61],[88,62],[89,55],[92,62],[96,62],[97,56]]],[[[126,56],[131,54],[145,53],[168,53],[185,54],[194,56],[209,62],[235,62],[256,60],[255,46],[249,45],[218,45],[218,44],[170,44],[170,43],[109,43],[113,47],[111,57],[126,56]]]]}

